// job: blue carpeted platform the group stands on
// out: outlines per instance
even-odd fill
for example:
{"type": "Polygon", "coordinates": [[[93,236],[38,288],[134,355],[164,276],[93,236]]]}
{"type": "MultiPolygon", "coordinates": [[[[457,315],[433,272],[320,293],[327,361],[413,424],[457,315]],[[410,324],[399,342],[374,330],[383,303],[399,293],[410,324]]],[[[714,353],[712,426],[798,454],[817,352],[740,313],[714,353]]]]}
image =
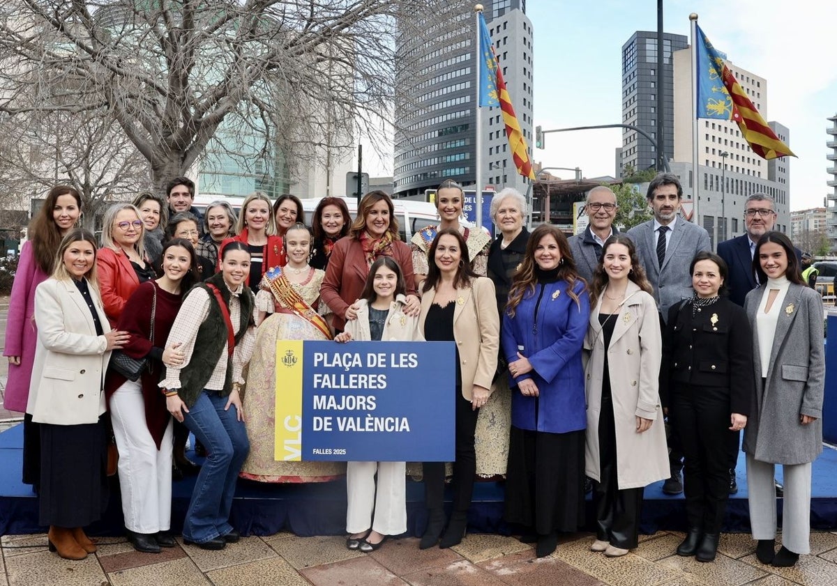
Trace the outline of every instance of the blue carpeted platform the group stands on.
{"type": "MultiPolygon", "coordinates": [[[[0,433],[0,535],[44,532],[38,524],[38,499],[32,488],[20,482],[23,426],[0,433]]],[[[189,454],[194,458],[194,454],[189,454]]],[[[781,467],[777,469],[781,481],[781,467]]],[[[725,532],[747,532],[747,481],[743,454],[737,467],[738,494],[727,507],[725,532]]],[[[93,535],[122,535],[121,501],[116,479],[111,479],[111,494],[105,518],[90,527],[93,535]]],[[[179,532],[192,493],[194,479],[175,482],[172,495],[172,531],[179,532]]],[[[642,532],[658,529],[683,530],[686,513],[682,495],[670,497],[661,492],[662,482],[645,489],[642,532]]],[[[814,462],[811,499],[811,527],[837,529],[837,450],[825,447],[814,462]]],[[[420,535],[426,522],[424,487],[420,482],[407,482],[408,534],[420,535]]],[[[779,499],[781,519],[782,501],[779,499]]],[[[509,534],[512,527],[502,522],[503,486],[501,482],[477,482],[469,526],[474,532],[509,534]]],[[[588,519],[593,507],[588,496],[588,519]]],[[[346,523],[346,482],[314,484],[265,485],[239,480],[231,522],[245,535],[270,535],[279,531],[300,536],[338,535],[346,523]]],[[[591,529],[588,527],[588,529],[591,529]]]]}

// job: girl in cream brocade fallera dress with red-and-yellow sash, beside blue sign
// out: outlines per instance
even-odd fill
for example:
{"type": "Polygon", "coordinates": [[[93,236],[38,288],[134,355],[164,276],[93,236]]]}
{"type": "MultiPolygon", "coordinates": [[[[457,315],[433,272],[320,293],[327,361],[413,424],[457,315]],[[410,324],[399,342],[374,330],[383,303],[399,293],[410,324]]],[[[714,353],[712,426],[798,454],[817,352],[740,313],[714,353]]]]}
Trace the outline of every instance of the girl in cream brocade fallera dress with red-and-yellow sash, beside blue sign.
{"type": "MultiPolygon", "coordinates": [[[[250,360],[244,410],[249,413],[250,453],[241,476],[258,482],[325,482],[341,476],[343,462],[276,461],[274,459],[276,341],[327,340],[331,333],[317,313],[326,273],[308,264],[311,232],[294,224],[285,232],[285,267],[272,267],[256,294],[256,344],[250,360]]],[[[327,311],[325,304],[322,307],[327,311]]]]}

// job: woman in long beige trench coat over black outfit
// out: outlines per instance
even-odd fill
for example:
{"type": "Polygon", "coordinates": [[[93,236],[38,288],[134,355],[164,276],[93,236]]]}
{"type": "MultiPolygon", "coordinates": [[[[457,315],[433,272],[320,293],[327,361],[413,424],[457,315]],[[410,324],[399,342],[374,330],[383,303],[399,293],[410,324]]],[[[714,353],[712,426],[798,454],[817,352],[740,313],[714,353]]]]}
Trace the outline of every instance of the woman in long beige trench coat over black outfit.
{"type": "Polygon", "coordinates": [[[584,339],[585,474],[595,483],[594,552],[637,547],[643,489],[670,475],[659,375],[660,317],[628,237],[608,238],[593,275],[584,339]]]}

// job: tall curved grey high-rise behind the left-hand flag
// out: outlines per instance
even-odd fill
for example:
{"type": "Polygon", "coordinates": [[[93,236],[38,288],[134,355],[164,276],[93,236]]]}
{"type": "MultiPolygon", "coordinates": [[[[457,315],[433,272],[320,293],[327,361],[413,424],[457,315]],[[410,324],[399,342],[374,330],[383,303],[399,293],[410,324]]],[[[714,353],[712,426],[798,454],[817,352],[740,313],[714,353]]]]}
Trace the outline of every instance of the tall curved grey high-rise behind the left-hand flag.
{"type": "MultiPolygon", "coordinates": [[[[474,4],[438,0],[433,11],[402,23],[398,45],[395,134],[396,196],[413,196],[444,179],[462,185],[511,186],[526,191],[517,175],[500,108],[481,113],[482,176],[476,177],[474,4]]],[[[506,79],[517,120],[532,143],[532,27],[526,0],[484,3],[484,16],[506,79]]]]}

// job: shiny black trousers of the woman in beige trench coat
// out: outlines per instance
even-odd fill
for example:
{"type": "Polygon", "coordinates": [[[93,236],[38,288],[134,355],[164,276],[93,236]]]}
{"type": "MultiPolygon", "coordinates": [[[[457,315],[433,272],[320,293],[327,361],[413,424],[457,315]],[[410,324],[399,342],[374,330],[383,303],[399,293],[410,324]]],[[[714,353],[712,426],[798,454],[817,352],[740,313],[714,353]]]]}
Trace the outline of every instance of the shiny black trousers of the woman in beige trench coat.
{"type": "Polygon", "coordinates": [[[639,517],[642,515],[644,488],[619,490],[616,466],[616,424],[614,403],[602,397],[598,414],[598,462],[601,479],[596,482],[596,538],[614,548],[633,549],[639,545],[639,517]]]}

